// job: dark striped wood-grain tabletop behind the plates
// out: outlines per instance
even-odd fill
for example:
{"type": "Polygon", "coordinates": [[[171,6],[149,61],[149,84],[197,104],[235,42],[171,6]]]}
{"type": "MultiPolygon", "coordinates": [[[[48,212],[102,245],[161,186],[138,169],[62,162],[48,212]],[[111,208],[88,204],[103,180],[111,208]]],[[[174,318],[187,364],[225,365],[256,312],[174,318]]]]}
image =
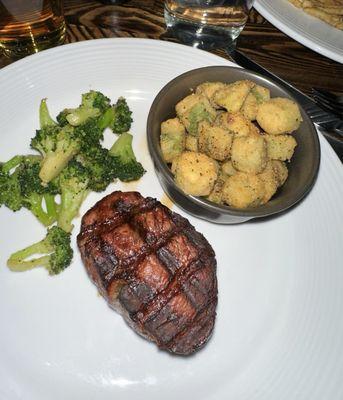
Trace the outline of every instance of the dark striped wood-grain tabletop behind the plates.
{"type": "MultiPolygon", "coordinates": [[[[64,0],[66,42],[103,37],[143,37],[176,41],[166,31],[162,0],[129,0],[122,5],[64,0]]],[[[253,10],[237,48],[253,60],[311,95],[313,86],[343,92],[343,65],[308,49],[253,10]]],[[[213,53],[229,59],[223,50],[213,53]]],[[[0,68],[12,60],[0,56],[0,68]]],[[[343,160],[343,144],[335,145],[343,160]]]]}

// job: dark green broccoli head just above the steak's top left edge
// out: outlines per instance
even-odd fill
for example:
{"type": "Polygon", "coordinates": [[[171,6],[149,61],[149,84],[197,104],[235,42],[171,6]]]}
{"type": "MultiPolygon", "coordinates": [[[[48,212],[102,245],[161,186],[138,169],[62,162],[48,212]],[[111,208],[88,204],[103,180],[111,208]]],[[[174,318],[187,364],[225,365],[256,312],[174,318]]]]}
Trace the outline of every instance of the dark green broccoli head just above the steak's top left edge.
{"type": "Polygon", "coordinates": [[[102,192],[114,180],[114,157],[101,145],[84,148],[77,160],[88,170],[89,189],[102,192]]]}

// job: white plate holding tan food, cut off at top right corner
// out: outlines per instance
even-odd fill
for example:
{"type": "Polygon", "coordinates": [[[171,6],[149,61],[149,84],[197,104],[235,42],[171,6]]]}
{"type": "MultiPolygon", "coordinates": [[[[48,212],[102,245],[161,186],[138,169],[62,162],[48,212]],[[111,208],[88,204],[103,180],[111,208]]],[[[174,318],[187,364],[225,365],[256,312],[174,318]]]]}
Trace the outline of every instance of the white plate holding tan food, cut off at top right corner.
{"type": "Polygon", "coordinates": [[[306,14],[288,0],[256,0],[254,7],[270,23],[297,42],[343,63],[343,31],[306,14]]]}

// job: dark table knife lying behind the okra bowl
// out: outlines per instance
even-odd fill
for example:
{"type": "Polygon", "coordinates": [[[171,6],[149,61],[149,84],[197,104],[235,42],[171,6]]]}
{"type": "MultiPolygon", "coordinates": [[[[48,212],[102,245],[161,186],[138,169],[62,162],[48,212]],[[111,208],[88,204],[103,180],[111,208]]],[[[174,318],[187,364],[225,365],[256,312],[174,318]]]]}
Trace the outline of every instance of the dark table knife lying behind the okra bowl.
{"type": "MultiPolygon", "coordinates": [[[[279,85],[285,87],[291,95],[301,104],[306,111],[307,115],[311,118],[312,122],[320,127],[322,130],[334,132],[336,135],[341,135],[343,138],[343,120],[337,115],[324,110],[310,97],[302,93],[300,90],[274,75],[272,72],[266,70],[260,64],[252,61],[250,58],[245,56],[243,53],[237,50],[233,50],[229,53],[230,57],[241,67],[250,69],[254,72],[258,72],[261,75],[267,76],[279,85]]],[[[336,136],[335,135],[335,136],[336,136]]],[[[343,144],[343,139],[342,139],[343,144]]]]}

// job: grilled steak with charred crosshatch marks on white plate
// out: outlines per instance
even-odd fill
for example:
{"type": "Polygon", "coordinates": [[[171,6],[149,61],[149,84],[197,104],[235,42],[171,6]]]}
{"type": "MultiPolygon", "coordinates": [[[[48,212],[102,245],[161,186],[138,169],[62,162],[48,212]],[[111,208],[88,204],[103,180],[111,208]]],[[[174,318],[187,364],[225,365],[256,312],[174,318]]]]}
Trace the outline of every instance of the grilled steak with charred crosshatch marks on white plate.
{"type": "Polygon", "coordinates": [[[156,199],[117,191],[84,215],[77,241],[90,278],[136,332],[183,355],[207,342],[216,260],[187,219],[156,199]]]}

